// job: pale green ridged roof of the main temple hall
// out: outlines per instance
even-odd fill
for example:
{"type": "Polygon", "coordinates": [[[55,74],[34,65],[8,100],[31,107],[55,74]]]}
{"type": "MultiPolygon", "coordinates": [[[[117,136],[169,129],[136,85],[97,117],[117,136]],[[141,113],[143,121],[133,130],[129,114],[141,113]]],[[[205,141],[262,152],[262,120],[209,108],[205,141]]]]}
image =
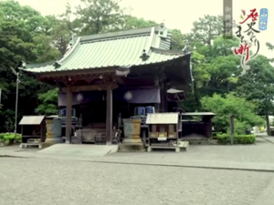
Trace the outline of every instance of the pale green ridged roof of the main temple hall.
{"type": "Polygon", "coordinates": [[[34,73],[70,71],[100,67],[133,67],[156,64],[180,56],[171,51],[171,34],[163,25],[122,32],[79,36],[59,61],[43,65],[27,65],[34,73]],[[143,59],[141,56],[146,56],[143,59]]]}

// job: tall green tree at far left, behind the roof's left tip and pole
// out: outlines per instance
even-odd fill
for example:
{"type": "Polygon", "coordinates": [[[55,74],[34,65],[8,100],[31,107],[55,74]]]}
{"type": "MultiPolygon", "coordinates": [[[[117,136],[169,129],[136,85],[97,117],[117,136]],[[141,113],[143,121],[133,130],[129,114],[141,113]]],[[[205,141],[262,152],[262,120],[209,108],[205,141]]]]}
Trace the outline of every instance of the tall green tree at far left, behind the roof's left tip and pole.
{"type": "MultiPolygon", "coordinates": [[[[10,67],[17,68],[22,60],[39,62],[58,57],[50,46],[45,32],[45,18],[29,6],[9,0],[0,1],[0,87],[3,105],[0,113],[0,132],[13,131],[16,106],[16,76],[10,67]]],[[[37,93],[47,89],[37,80],[20,75],[18,121],[23,115],[34,114],[37,93]]]]}

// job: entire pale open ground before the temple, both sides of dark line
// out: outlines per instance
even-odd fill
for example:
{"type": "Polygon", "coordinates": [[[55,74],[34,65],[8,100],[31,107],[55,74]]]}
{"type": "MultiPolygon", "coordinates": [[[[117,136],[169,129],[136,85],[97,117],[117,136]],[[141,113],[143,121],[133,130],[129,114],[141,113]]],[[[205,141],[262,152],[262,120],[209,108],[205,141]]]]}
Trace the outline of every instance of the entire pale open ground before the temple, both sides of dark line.
{"type": "Polygon", "coordinates": [[[272,141],[105,157],[0,148],[2,157],[23,157],[0,158],[0,204],[272,205],[272,141]]]}

